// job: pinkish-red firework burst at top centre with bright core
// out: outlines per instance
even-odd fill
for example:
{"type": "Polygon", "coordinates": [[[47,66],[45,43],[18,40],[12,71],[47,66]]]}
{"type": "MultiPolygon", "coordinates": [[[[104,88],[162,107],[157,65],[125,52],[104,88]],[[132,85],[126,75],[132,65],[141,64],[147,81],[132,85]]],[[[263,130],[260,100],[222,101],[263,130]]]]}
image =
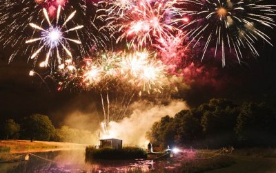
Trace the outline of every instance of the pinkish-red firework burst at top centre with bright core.
{"type": "Polygon", "coordinates": [[[146,46],[178,30],[170,25],[174,21],[172,17],[179,12],[175,7],[177,4],[177,1],[115,1],[109,3],[111,7],[106,9],[107,15],[99,15],[107,22],[101,29],[108,28],[111,37],[119,33],[117,43],[126,38],[130,40],[130,46],[146,46]],[[121,6],[121,3],[128,5],[121,6]],[[121,8],[115,10],[117,6],[121,8]]]}

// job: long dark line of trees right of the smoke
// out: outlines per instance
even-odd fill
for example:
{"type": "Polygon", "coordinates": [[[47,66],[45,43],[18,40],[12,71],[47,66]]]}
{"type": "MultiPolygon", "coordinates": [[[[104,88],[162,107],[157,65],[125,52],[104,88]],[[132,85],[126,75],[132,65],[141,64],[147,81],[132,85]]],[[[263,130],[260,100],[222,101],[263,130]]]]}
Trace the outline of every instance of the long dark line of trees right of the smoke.
{"type": "Polygon", "coordinates": [[[275,147],[276,113],[265,103],[212,99],[173,118],[164,116],[146,136],[161,147],[275,147]]]}

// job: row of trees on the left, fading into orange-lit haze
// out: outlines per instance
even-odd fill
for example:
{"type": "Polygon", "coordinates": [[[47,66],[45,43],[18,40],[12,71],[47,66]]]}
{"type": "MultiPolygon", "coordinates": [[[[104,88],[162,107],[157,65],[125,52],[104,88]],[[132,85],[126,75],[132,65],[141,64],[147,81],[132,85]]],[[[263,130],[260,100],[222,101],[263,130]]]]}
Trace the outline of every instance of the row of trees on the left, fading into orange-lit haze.
{"type": "Polygon", "coordinates": [[[8,119],[0,125],[1,139],[42,140],[89,144],[92,133],[68,126],[55,128],[48,116],[34,114],[24,117],[20,123],[8,119]]]}

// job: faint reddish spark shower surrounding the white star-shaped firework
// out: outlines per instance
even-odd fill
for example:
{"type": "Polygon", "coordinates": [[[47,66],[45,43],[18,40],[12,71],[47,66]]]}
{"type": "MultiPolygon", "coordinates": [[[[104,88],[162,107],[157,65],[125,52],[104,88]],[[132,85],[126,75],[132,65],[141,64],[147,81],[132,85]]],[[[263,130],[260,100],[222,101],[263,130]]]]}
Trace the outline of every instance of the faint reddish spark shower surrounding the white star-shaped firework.
{"type": "MultiPolygon", "coordinates": [[[[30,55],[36,48],[34,44],[26,45],[26,39],[35,35],[34,30],[30,30],[28,24],[36,23],[38,26],[46,26],[43,8],[48,12],[50,21],[55,21],[59,6],[63,11],[59,15],[59,21],[65,21],[67,15],[72,11],[77,11],[77,15],[71,19],[71,26],[84,25],[81,30],[75,30],[70,35],[77,36],[82,44],[78,44],[74,51],[77,56],[84,57],[90,53],[90,48],[97,45],[105,47],[108,41],[105,33],[99,33],[95,26],[95,12],[88,11],[87,8],[95,8],[93,3],[86,0],[3,0],[0,3],[0,42],[3,47],[12,50],[9,62],[17,55],[30,55]]],[[[98,24],[98,23],[97,23],[98,24]]],[[[66,26],[67,27],[67,26],[66,26]]],[[[43,28],[43,27],[42,27],[43,28]]],[[[30,57],[29,57],[30,58],[30,57]]]]}

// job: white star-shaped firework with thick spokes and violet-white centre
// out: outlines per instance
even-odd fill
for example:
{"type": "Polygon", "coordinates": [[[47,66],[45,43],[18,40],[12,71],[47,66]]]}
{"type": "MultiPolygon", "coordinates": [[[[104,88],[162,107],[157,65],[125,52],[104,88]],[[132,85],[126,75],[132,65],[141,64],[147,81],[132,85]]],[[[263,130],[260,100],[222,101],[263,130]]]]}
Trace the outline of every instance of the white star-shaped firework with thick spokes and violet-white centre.
{"type": "Polygon", "coordinates": [[[41,50],[43,48],[48,49],[48,53],[46,55],[46,60],[41,62],[41,64],[40,64],[41,67],[49,66],[49,59],[52,56],[53,51],[57,52],[57,62],[59,64],[61,64],[61,56],[59,54],[59,47],[62,47],[63,51],[65,51],[69,57],[72,57],[72,53],[68,50],[68,48],[66,48],[66,44],[69,45],[67,41],[73,42],[75,44],[81,44],[81,42],[77,39],[70,39],[70,38],[66,37],[66,34],[72,32],[74,30],[79,30],[79,29],[83,28],[82,25],[75,26],[74,28],[70,28],[70,29],[66,29],[66,27],[65,27],[66,24],[68,23],[68,21],[70,21],[75,16],[76,11],[72,12],[71,15],[69,15],[68,19],[66,19],[66,21],[64,21],[64,23],[61,26],[59,26],[60,11],[61,11],[61,6],[59,6],[59,9],[57,11],[57,22],[55,25],[52,25],[52,23],[49,19],[47,10],[45,8],[43,8],[44,16],[49,24],[49,27],[47,29],[41,28],[37,24],[30,23],[30,26],[32,28],[34,28],[35,30],[41,31],[41,37],[27,40],[26,44],[30,44],[30,43],[37,42],[37,41],[41,41],[41,44],[42,44],[42,46],[40,46],[37,49],[37,51],[35,51],[32,54],[32,56],[30,58],[34,59],[34,57],[37,57],[37,55],[39,55],[39,53],[41,52],[41,50]]]}

